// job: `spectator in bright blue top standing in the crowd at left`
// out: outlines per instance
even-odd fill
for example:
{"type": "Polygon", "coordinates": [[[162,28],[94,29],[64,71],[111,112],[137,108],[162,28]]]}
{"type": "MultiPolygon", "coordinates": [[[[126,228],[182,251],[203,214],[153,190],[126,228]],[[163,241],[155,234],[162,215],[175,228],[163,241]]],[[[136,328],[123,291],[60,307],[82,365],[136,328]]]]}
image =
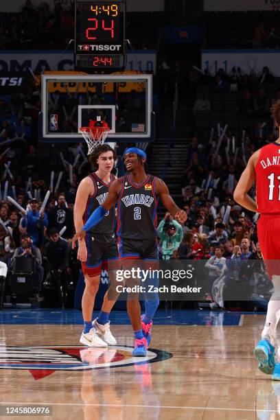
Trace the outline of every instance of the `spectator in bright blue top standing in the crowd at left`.
{"type": "Polygon", "coordinates": [[[33,198],[30,200],[30,211],[21,219],[19,230],[21,234],[27,233],[32,237],[34,246],[41,246],[43,244],[45,232],[48,226],[47,214],[39,212],[38,200],[33,198]]]}

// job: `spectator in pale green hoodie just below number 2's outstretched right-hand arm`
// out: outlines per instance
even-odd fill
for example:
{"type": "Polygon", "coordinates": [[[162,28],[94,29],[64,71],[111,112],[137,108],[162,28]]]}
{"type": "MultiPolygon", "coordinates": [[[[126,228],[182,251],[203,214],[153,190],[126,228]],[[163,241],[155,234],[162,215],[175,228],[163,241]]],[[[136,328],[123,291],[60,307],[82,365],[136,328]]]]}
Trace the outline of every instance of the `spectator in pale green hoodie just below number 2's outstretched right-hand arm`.
{"type": "Polygon", "coordinates": [[[161,239],[163,259],[170,259],[175,249],[178,249],[183,239],[183,229],[180,223],[172,218],[170,213],[165,213],[158,227],[161,239]]]}

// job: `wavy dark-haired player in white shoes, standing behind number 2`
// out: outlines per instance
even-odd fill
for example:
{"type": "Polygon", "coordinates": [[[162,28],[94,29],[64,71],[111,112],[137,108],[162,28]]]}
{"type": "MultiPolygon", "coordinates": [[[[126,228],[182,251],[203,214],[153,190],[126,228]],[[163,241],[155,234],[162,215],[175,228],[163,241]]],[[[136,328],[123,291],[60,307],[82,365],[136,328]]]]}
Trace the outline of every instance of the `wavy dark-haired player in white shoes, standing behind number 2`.
{"type": "MultiPolygon", "coordinates": [[[[84,178],[77,191],[74,208],[76,231],[89,219],[91,213],[103,204],[108,196],[108,189],[115,180],[111,174],[115,151],[109,145],[100,145],[91,154],[91,163],[97,171],[84,178]]],[[[115,240],[115,207],[106,212],[104,219],[86,233],[79,241],[78,259],[82,262],[85,277],[85,289],[82,296],[82,315],[84,331],[80,342],[90,347],[106,347],[116,345],[117,341],[110,332],[108,320],[110,310],[115,301],[108,300],[108,292],[104,296],[102,310],[97,319],[91,322],[95,296],[100,285],[102,268],[107,268],[108,261],[119,261],[119,252],[115,240]]]]}

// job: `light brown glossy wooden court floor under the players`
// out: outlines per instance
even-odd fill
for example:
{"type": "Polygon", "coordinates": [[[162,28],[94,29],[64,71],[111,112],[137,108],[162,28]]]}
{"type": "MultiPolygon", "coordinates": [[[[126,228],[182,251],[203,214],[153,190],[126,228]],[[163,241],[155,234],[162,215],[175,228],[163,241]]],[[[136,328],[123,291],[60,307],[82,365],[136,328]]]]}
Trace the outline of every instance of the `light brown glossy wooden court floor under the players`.
{"type": "Polygon", "coordinates": [[[128,365],[129,325],[112,325],[121,347],[108,350],[80,346],[79,325],[1,325],[1,404],[52,406],[51,417],[38,419],[280,419],[280,382],[253,358],[263,323],[264,316],[245,315],[234,327],[155,325],[151,347],[168,357],[128,365]],[[90,366],[119,360],[119,367],[47,371],[42,347],[54,363],[59,348],[66,365],[80,351],[90,366]],[[20,367],[19,354],[24,369],[11,369],[20,367]]]}

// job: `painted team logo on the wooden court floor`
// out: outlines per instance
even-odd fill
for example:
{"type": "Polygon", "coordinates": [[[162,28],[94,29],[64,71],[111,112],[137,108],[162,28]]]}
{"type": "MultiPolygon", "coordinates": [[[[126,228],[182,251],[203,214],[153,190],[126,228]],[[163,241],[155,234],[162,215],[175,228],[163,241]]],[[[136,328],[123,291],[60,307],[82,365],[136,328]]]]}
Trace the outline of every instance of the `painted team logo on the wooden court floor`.
{"type": "Polygon", "coordinates": [[[145,358],[132,357],[133,347],[10,346],[0,347],[0,369],[25,369],[38,380],[55,371],[117,368],[172,358],[167,351],[149,349],[145,358]]]}

